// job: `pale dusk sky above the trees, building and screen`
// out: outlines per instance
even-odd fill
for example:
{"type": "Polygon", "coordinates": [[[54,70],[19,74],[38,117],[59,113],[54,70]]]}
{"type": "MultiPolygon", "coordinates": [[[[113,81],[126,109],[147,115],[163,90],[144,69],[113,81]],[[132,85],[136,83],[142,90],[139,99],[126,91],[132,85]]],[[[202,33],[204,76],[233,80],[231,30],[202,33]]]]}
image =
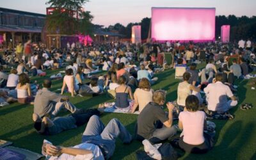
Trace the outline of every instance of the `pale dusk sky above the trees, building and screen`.
{"type": "MultiPolygon", "coordinates": [[[[46,1],[1,0],[0,7],[45,14],[46,1]]],[[[215,7],[216,15],[256,15],[256,0],[91,0],[84,4],[85,10],[94,16],[93,23],[104,26],[140,22],[151,17],[151,7],[215,7]]]]}

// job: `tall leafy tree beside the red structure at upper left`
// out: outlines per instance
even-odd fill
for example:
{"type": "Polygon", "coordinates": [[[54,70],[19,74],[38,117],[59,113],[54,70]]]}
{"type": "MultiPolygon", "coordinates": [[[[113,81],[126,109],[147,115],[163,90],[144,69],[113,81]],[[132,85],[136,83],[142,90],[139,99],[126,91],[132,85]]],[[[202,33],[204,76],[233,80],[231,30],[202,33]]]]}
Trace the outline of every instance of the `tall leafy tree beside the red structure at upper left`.
{"type": "Polygon", "coordinates": [[[46,16],[47,31],[66,35],[90,33],[93,16],[83,12],[86,2],[88,0],[49,0],[46,4],[55,10],[46,16]]]}

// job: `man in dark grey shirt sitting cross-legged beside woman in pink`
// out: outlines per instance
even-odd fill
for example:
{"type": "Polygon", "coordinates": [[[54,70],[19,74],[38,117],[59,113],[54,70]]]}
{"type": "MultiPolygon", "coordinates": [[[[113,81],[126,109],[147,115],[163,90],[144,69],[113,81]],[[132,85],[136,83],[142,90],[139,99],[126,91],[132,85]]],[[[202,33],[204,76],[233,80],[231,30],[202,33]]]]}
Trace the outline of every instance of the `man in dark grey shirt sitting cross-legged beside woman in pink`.
{"type": "Polygon", "coordinates": [[[172,111],[173,104],[168,102],[168,117],[163,110],[163,104],[166,99],[164,90],[157,90],[153,94],[153,102],[149,102],[138,116],[138,132],[137,139],[147,139],[152,143],[170,138],[176,134],[177,129],[173,126],[172,111]]]}

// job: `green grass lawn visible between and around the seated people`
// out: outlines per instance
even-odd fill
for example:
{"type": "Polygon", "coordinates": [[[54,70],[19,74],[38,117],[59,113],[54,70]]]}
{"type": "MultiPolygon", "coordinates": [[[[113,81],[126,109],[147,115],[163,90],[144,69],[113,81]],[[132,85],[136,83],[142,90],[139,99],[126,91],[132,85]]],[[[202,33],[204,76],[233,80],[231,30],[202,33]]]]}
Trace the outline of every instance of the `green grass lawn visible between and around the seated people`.
{"type": "MultiPolygon", "coordinates": [[[[59,70],[47,72],[47,77],[58,73],[59,70]]],[[[159,74],[159,82],[152,86],[154,90],[163,89],[168,92],[167,101],[177,98],[177,85],[179,81],[174,78],[174,70],[166,70],[159,74]]],[[[41,83],[45,77],[38,77],[41,83]]],[[[250,81],[250,80],[249,80],[250,81]]],[[[216,124],[216,143],[214,148],[203,155],[184,154],[180,159],[256,159],[256,92],[247,86],[248,80],[239,80],[237,96],[240,106],[244,102],[253,104],[253,108],[243,111],[239,107],[231,109],[234,120],[213,120],[216,124]]],[[[61,88],[62,81],[53,81],[52,91],[61,88]]],[[[96,108],[99,103],[111,102],[113,100],[106,97],[106,93],[98,97],[74,97],[70,100],[78,108],[96,108]]],[[[0,139],[12,141],[13,146],[26,148],[34,152],[41,152],[44,139],[52,141],[55,145],[72,146],[81,143],[81,136],[86,125],[61,132],[54,136],[42,136],[33,129],[32,121],[33,106],[11,104],[0,108],[0,139]]],[[[62,111],[59,116],[68,115],[62,111]]],[[[122,113],[104,113],[102,122],[107,124],[111,118],[118,118],[127,129],[134,134],[134,124],[137,115],[122,113]]],[[[174,122],[177,124],[177,121],[174,122]]],[[[116,141],[116,149],[111,159],[136,159],[136,150],[143,150],[143,145],[138,141],[132,141],[130,145],[123,145],[120,140],[116,141]]]]}

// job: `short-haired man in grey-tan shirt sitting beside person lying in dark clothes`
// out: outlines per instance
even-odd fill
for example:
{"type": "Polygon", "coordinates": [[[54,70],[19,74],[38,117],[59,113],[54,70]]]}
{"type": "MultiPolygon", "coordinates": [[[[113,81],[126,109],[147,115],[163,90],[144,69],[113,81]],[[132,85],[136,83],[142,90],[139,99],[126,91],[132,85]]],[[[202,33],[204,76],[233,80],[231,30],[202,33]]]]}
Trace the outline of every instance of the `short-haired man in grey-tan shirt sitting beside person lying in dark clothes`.
{"type": "Polygon", "coordinates": [[[40,117],[49,114],[56,116],[62,108],[68,109],[71,113],[75,113],[78,109],[76,106],[68,102],[69,98],[65,95],[51,92],[51,79],[45,79],[42,90],[38,90],[34,102],[34,113],[40,117]]]}

